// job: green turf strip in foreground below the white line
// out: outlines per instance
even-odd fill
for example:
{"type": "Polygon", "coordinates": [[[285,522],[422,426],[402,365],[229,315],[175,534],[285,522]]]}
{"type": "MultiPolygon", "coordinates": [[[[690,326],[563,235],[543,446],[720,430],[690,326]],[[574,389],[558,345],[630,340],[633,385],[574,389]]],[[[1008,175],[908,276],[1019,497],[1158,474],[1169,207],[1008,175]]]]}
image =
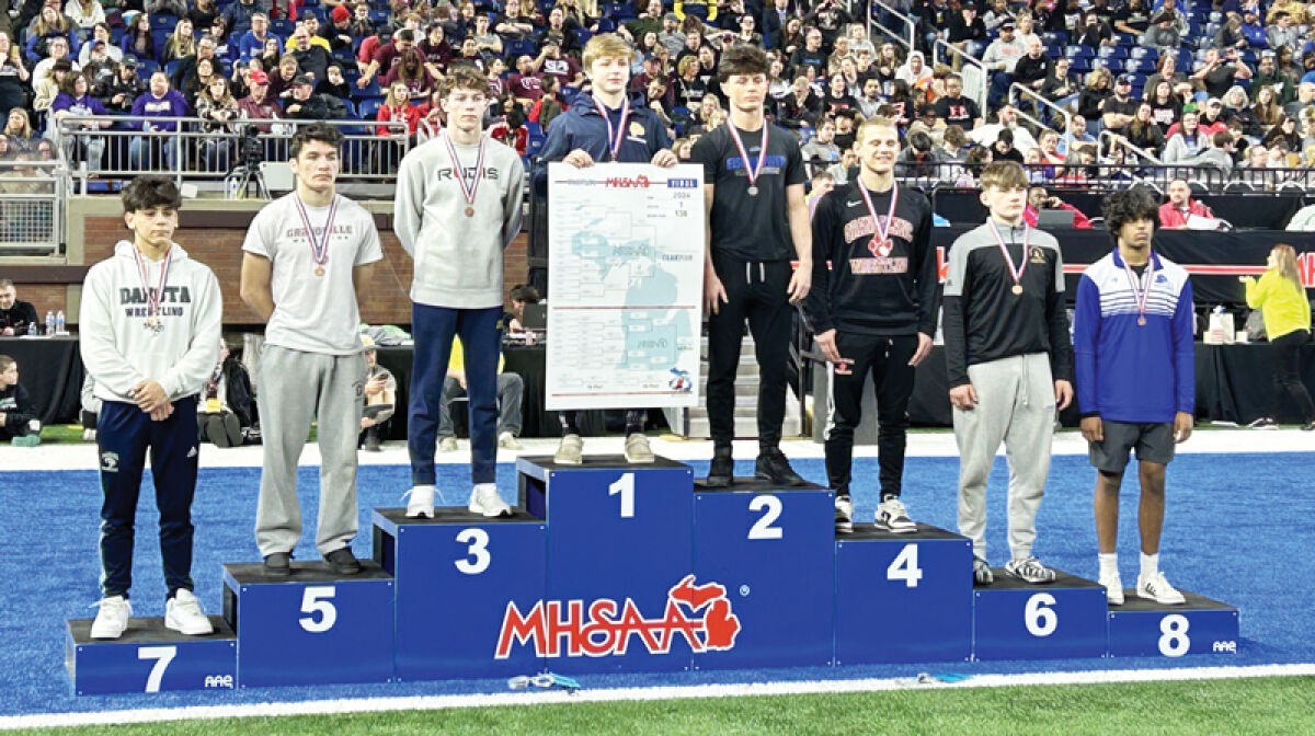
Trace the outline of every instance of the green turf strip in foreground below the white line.
{"type": "Polygon", "coordinates": [[[247,718],[28,733],[707,735],[1315,733],[1315,678],[927,689],[247,718]]]}

